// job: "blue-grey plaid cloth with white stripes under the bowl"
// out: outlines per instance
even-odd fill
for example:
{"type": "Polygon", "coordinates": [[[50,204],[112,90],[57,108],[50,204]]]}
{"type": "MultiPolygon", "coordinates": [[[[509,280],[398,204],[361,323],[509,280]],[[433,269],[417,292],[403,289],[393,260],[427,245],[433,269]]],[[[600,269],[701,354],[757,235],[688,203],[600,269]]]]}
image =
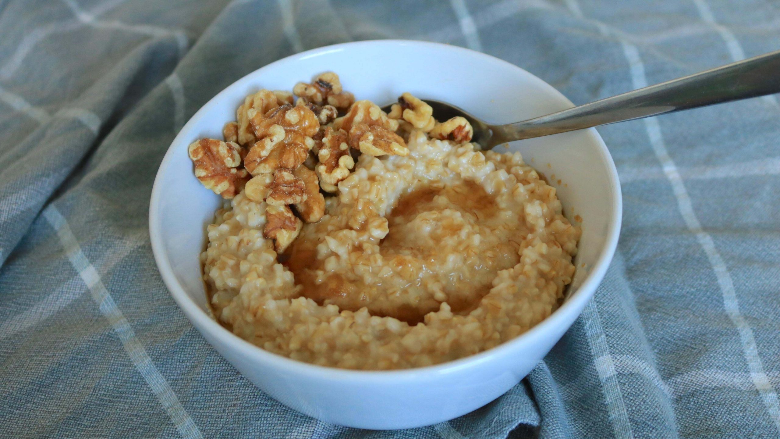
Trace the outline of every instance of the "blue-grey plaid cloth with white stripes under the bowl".
{"type": "MultiPolygon", "coordinates": [[[[0,436],[780,437],[777,96],[600,128],[615,261],[527,379],[401,431],[275,402],[151,255],[154,174],[222,88],[294,52],[463,45],[577,104],[780,47],[773,0],[9,0],[0,4],[0,436]]],[[[391,68],[391,66],[388,66],[391,68]]]]}

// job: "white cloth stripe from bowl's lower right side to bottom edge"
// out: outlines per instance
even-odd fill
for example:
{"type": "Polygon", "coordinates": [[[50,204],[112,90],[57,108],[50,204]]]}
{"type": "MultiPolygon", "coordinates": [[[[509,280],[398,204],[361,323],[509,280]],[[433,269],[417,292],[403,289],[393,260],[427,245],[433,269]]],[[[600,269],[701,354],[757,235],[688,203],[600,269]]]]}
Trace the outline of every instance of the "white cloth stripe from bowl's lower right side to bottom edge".
{"type": "Polygon", "coordinates": [[[598,315],[594,299],[590,299],[590,302],[583,309],[582,318],[590,351],[593,352],[595,359],[594,363],[598,380],[601,383],[601,391],[604,393],[607,404],[612,431],[615,433],[615,437],[633,437],[626,402],[623,401],[620,384],[615,377],[617,375],[615,361],[609,353],[607,337],[601,327],[601,317],[598,315]]]}

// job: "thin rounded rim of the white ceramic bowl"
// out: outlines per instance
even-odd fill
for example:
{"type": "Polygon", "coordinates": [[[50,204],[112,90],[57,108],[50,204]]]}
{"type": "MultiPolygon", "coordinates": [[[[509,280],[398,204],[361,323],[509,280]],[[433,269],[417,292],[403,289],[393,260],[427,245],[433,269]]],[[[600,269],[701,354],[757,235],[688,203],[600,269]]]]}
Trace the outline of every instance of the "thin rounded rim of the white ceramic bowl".
{"type": "Polygon", "coordinates": [[[168,287],[168,291],[170,292],[176,304],[179,305],[179,308],[182,309],[184,314],[188,317],[188,319],[190,319],[191,323],[193,323],[193,326],[195,326],[198,330],[208,332],[213,337],[215,337],[216,341],[219,343],[225,344],[227,347],[240,351],[243,355],[251,357],[254,361],[257,361],[258,364],[262,364],[263,366],[285,369],[290,373],[296,373],[307,377],[318,377],[328,380],[350,380],[353,382],[370,381],[372,383],[376,383],[377,380],[408,380],[417,378],[421,375],[443,375],[456,373],[462,371],[463,369],[470,369],[473,366],[477,366],[484,362],[490,362],[491,359],[495,357],[507,355],[510,352],[521,348],[523,345],[533,344],[535,340],[540,337],[544,337],[544,334],[546,334],[552,328],[566,324],[566,317],[571,312],[576,312],[577,316],[579,316],[581,309],[587,305],[587,301],[590,300],[590,298],[595,294],[596,288],[604,278],[609,263],[612,261],[612,256],[615,254],[615,249],[617,248],[620,226],[622,222],[622,192],[619,184],[617,169],[615,168],[615,162],[612,160],[612,155],[609,154],[607,146],[601,139],[601,135],[598,134],[595,128],[589,128],[583,131],[587,131],[587,134],[589,134],[591,137],[594,137],[594,140],[599,147],[601,158],[604,159],[607,163],[608,180],[612,188],[613,213],[612,218],[609,219],[608,223],[605,246],[601,248],[601,253],[598,256],[597,261],[593,264],[593,266],[590,267],[590,273],[587,273],[587,277],[583,283],[580,284],[580,287],[578,287],[577,290],[571,294],[571,296],[566,299],[566,301],[564,301],[561,306],[558,307],[558,309],[555,309],[555,311],[552,312],[550,316],[542,320],[540,323],[537,323],[534,327],[531,327],[530,330],[527,330],[523,334],[520,334],[519,336],[514,337],[509,341],[505,341],[502,344],[498,344],[493,348],[478,352],[477,354],[468,355],[466,357],[448,362],[441,362],[432,366],[392,370],[341,369],[333,366],[321,366],[313,363],[302,362],[300,360],[290,359],[289,357],[275,354],[274,352],[266,351],[255,344],[251,344],[249,341],[244,340],[236,334],[233,334],[231,331],[227,330],[220,323],[218,323],[214,318],[209,316],[207,312],[204,312],[204,310],[201,309],[192,298],[190,298],[190,296],[184,290],[183,286],[179,284],[179,281],[176,279],[176,275],[173,273],[171,263],[168,260],[168,254],[165,252],[165,247],[161,240],[158,205],[160,204],[161,195],[163,194],[164,189],[161,187],[161,179],[159,177],[162,173],[165,173],[165,170],[167,170],[168,163],[171,162],[172,155],[175,150],[174,146],[179,145],[179,143],[184,141],[183,134],[190,130],[190,125],[193,123],[193,120],[200,120],[200,113],[204,112],[204,109],[207,106],[209,106],[215,100],[221,99],[222,95],[225,94],[225,91],[228,91],[231,87],[236,86],[236,84],[242,82],[246,77],[257,76],[257,74],[261,73],[263,70],[270,70],[281,63],[295,62],[310,58],[312,56],[324,55],[329,52],[349,50],[350,48],[371,45],[392,45],[395,46],[395,48],[398,48],[398,46],[434,48],[441,51],[456,52],[464,56],[479,59],[481,62],[492,62],[499,65],[505,65],[511,69],[519,69],[522,70],[523,73],[526,73],[528,76],[530,76],[532,80],[537,80],[541,88],[546,88],[546,91],[549,91],[552,95],[557,95],[558,98],[561,98],[569,105],[574,106],[574,104],[569,101],[566,96],[562,95],[560,91],[555,89],[555,87],[552,87],[550,84],[544,80],[541,80],[541,78],[536,77],[527,70],[524,70],[519,66],[515,66],[511,62],[507,62],[503,59],[499,59],[495,56],[491,56],[482,52],[473,51],[468,48],[431,41],[397,39],[367,40],[352,41],[337,45],[328,45],[289,55],[285,58],[278,59],[275,62],[271,62],[265,66],[262,66],[257,70],[247,73],[245,76],[234,81],[228,87],[225,87],[213,98],[209,99],[208,102],[206,102],[195,114],[193,114],[192,117],[190,117],[190,120],[184,124],[182,129],[179,130],[179,133],[176,134],[176,137],[171,142],[171,145],[168,147],[168,151],[165,152],[165,156],[160,163],[158,172],[154,177],[154,185],[151,191],[149,206],[149,232],[151,248],[162,280],[165,283],[165,286],[168,287]]]}

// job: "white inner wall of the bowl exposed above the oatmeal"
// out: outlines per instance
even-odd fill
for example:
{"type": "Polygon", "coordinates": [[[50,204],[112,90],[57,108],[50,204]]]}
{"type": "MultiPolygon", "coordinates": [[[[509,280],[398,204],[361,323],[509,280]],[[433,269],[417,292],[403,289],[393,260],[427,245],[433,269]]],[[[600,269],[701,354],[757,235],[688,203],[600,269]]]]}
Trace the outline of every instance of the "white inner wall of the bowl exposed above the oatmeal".
{"type": "MultiPolygon", "coordinates": [[[[333,70],[358,99],[385,105],[410,91],[419,98],[452,102],[495,123],[571,106],[542,80],[497,59],[445,46],[415,46],[405,51],[398,50],[398,45],[388,43],[387,50],[378,50],[377,45],[353,45],[349,50],[335,48],[266,66],[211,99],[176,137],[158,173],[157,184],[163,191],[157,205],[162,257],[167,255],[177,280],[202,309],[208,307],[199,255],[204,249],[205,227],[213,221],[222,200],[194,177],[187,146],[200,137],[222,138],[223,124],[235,120],[236,108],[250,92],[260,88],[292,90],[298,80],[333,70]],[[473,59],[463,59],[464,53],[473,59]],[[406,67],[399,70],[399,66],[406,67]]],[[[575,216],[583,219],[577,273],[569,294],[576,291],[601,255],[608,223],[615,213],[612,199],[616,188],[610,184],[611,165],[601,145],[593,130],[584,130],[513,142],[509,148],[521,152],[526,162],[548,177],[570,220],[575,216]]],[[[498,151],[502,150],[499,147],[498,151]]]]}

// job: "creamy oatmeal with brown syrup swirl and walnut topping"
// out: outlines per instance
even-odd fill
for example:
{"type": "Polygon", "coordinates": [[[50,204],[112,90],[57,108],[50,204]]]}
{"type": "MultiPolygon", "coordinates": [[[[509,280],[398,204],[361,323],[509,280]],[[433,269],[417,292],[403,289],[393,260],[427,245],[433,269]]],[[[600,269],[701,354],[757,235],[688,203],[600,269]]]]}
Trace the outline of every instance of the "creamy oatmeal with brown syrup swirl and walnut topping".
{"type": "Polygon", "coordinates": [[[247,97],[225,141],[190,146],[229,199],[201,256],[225,327],[304,362],[401,369],[555,310],[580,230],[519,154],[480,152],[466,120],[406,93],[386,114],[334,73],[293,91],[247,97]]]}

